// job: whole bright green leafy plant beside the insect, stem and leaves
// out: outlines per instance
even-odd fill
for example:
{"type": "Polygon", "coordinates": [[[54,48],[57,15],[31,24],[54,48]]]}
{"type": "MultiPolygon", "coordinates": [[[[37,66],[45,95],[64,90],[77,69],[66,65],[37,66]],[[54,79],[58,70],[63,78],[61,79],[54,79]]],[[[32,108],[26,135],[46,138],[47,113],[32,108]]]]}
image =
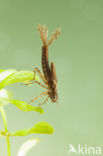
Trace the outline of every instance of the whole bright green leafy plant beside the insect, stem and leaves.
{"type": "MultiPolygon", "coordinates": [[[[54,132],[53,127],[44,121],[39,122],[36,125],[28,129],[22,129],[16,132],[8,131],[7,118],[6,118],[6,113],[4,110],[4,107],[7,106],[8,104],[13,104],[18,109],[24,112],[36,111],[41,114],[44,113],[44,110],[41,107],[35,107],[24,101],[13,99],[12,93],[4,89],[4,87],[6,87],[7,85],[18,83],[18,82],[27,82],[33,79],[34,79],[34,73],[31,71],[17,71],[15,69],[9,69],[9,70],[1,69],[0,70],[0,112],[2,115],[3,123],[4,123],[4,130],[0,131],[0,137],[6,138],[8,156],[11,156],[10,140],[9,140],[10,137],[26,136],[31,133],[52,134],[54,132]]],[[[39,78],[36,75],[35,75],[35,80],[39,81],[39,78]]],[[[17,156],[25,156],[27,151],[39,142],[40,142],[40,139],[38,138],[34,138],[25,142],[21,146],[17,156]]]]}

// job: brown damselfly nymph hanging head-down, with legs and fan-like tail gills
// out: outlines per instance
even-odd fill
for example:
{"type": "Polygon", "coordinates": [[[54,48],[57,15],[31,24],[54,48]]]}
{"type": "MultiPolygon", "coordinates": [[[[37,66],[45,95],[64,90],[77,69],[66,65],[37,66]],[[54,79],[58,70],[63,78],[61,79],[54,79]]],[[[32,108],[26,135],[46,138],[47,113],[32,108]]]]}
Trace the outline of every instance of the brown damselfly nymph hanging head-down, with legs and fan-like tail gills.
{"type": "Polygon", "coordinates": [[[35,100],[39,99],[40,97],[47,96],[45,101],[39,105],[45,104],[48,99],[50,98],[52,102],[58,101],[58,94],[57,94],[57,77],[56,77],[56,70],[55,70],[55,64],[54,62],[51,62],[51,66],[49,65],[48,60],[48,46],[51,45],[51,43],[58,38],[60,35],[60,29],[57,29],[53,32],[51,35],[49,41],[47,42],[47,35],[48,35],[48,29],[46,26],[38,25],[38,32],[40,34],[40,37],[43,41],[42,45],[42,70],[43,74],[40,72],[38,68],[34,69],[34,75],[36,72],[38,72],[39,76],[43,80],[44,84],[38,81],[29,82],[28,84],[37,83],[43,88],[46,89],[45,92],[42,92],[39,96],[35,97],[31,100],[31,102],[34,102],[35,100]]]}

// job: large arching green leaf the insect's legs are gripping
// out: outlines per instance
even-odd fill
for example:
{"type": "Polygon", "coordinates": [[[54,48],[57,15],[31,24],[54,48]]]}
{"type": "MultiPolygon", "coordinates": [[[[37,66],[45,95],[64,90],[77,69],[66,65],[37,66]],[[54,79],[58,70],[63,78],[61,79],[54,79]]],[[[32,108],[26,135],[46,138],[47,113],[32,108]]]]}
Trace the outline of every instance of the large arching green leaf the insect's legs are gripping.
{"type": "MultiPolygon", "coordinates": [[[[5,72],[5,71],[4,71],[5,72]]],[[[4,73],[2,72],[2,74],[4,73]]],[[[0,78],[2,78],[2,74],[0,74],[0,78]]],[[[4,73],[5,75],[5,73],[4,73]]],[[[0,89],[4,88],[7,85],[17,83],[17,82],[26,82],[28,80],[34,80],[34,72],[32,71],[15,71],[9,76],[6,76],[5,79],[0,83],[0,89]]],[[[35,80],[39,80],[39,78],[35,75],[35,80]]]]}

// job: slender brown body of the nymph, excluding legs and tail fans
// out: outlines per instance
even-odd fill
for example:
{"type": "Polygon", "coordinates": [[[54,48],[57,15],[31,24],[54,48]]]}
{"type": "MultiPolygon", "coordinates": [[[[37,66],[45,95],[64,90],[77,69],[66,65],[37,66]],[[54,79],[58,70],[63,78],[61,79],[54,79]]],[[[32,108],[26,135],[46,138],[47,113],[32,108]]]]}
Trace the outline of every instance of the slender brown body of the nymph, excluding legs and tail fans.
{"type": "Polygon", "coordinates": [[[51,63],[51,68],[49,66],[48,45],[42,46],[42,69],[43,69],[44,77],[47,81],[48,94],[52,102],[57,102],[58,94],[57,94],[56,71],[55,71],[54,62],[51,63]]]}

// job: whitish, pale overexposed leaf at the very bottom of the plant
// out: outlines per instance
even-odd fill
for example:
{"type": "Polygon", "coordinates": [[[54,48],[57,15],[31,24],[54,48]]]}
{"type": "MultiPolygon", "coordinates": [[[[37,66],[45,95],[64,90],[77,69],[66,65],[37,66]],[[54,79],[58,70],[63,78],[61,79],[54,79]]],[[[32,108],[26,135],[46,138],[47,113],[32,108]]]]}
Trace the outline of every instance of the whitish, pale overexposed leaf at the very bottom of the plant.
{"type": "Polygon", "coordinates": [[[17,154],[17,156],[26,156],[27,152],[33,148],[34,146],[36,146],[38,143],[40,143],[41,140],[38,139],[38,138],[33,138],[33,139],[30,139],[26,142],[24,142],[20,149],[19,149],[19,152],[17,154]]]}

